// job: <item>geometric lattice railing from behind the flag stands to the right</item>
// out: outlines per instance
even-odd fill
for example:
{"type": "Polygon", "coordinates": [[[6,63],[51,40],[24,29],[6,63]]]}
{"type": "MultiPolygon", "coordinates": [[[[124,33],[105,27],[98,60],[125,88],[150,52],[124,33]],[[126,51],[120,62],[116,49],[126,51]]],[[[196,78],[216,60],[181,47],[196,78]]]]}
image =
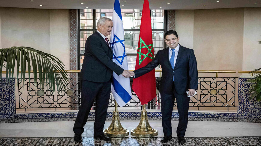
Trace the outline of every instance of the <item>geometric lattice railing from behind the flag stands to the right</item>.
{"type": "MultiPolygon", "coordinates": [[[[237,107],[237,102],[235,101],[235,77],[199,77],[198,78],[198,90],[197,94],[190,98],[190,107],[237,107]]],[[[132,78],[130,78],[130,84],[132,85],[132,78]]],[[[161,85],[161,78],[156,77],[156,89],[159,91],[159,86],[161,85]]],[[[114,109],[114,98],[110,96],[109,110],[114,109]]],[[[174,106],[177,106],[175,101],[174,106]]],[[[131,100],[125,105],[126,109],[128,107],[142,107],[140,99],[137,95],[132,92],[131,100]]],[[[152,99],[146,105],[148,109],[161,109],[161,97],[157,93],[156,97],[152,99]]],[[[138,109],[138,108],[137,108],[138,109]]]]}

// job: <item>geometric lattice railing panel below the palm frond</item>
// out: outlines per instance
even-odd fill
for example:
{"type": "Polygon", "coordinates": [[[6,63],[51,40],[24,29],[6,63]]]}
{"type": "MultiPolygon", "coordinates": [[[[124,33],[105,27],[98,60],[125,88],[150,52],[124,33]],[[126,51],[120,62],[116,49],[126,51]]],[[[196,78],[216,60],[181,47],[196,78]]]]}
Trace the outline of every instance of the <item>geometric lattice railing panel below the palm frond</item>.
{"type": "MultiPolygon", "coordinates": [[[[58,78],[59,80],[60,78],[58,78]]],[[[60,89],[58,93],[56,91],[53,94],[49,86],[49,82],[45,83],[44,89],[40,90],[39,79],[37,79],[36,84],[34,79],[26,78],[24,84],[21,83],[21,79],[18,79],[18,84],[22,84],[18,87],[19,92],[19,109],[28,109],[28,108],[58,108],[58,107],[72,107],[71,103],[78,102],[78,104],[73,104],[76,107],[79,107],[79,101],[75,101],[73,96],[79,96],[79,90],[73,90],[78,87],[79,82],[73,82],[73,79],[78,78],[68,78],[70,81],[65,87],[66,90],[60,89]],[[35,87],[36,86],[36,87],[35,87]],[[41,95],[38,94],[39,91],[43,91],[41,95]],[[70,91],[70,92],[68,92],[70,91]],[[72,100],[73,99],[73,100],[72,100]]],[[[62,82],[62,81],[61,81],[62,82]]]]}

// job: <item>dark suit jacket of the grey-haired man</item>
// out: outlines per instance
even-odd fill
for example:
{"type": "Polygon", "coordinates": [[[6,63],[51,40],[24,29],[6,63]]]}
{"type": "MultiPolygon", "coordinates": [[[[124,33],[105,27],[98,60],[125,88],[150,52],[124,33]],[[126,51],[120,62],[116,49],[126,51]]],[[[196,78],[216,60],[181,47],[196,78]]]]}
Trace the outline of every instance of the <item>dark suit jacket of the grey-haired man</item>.
{"type": "Polygon", "coordinates": [[[113,62],[113,52],[103,37],[95,31],[85,43],[80,80],[108,82],[113,71],[120,75],[124,69],[113,62]]]}

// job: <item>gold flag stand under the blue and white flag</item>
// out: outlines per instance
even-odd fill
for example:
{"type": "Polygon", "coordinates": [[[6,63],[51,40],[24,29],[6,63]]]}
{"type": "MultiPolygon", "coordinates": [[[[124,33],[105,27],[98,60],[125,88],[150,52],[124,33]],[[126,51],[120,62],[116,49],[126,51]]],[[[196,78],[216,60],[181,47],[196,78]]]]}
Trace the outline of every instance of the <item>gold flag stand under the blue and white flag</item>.
{"type": "Polygon", "coordinates": [[[119,119],[118,104],[115,100],[115,110],[113,111],[113,121],[111,125],[103,130],[103,133],[109,137],[124,137],[129,135],[129,130],[124,129],[119,119]]]}

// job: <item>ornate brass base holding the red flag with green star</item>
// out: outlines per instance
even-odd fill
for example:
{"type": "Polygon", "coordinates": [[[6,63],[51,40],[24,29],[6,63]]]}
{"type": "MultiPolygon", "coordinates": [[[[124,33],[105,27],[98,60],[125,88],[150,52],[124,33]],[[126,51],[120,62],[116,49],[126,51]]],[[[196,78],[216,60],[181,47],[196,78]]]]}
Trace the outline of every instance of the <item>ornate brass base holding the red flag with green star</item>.
{"type": "Polygon", "coordinates": [[[158,131],[155,129],[152,129],[152,127],[149,125],[147,111],[145,109],[146,109],[145,104],[143,104],[143,110],[141,111],[140,124],[137,126],[137,128],[131,130],[132,136],[152,137],[152,136],[158,135],[158,131]]]}

